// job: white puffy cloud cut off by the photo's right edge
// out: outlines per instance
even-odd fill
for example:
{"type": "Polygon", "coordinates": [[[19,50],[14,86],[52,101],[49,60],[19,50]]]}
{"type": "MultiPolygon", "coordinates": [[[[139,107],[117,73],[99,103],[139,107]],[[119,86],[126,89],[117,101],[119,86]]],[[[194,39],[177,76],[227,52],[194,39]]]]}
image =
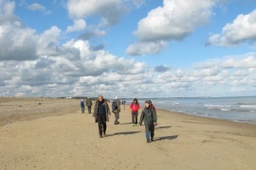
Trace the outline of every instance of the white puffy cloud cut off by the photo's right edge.
{"type": "Polygon", "coordinates": [[[223,27],[221,34],[211,35],[208,44],[234,46],[256,40],[256,9],[248,14],[240,14],[232,23],[223,27]]]}

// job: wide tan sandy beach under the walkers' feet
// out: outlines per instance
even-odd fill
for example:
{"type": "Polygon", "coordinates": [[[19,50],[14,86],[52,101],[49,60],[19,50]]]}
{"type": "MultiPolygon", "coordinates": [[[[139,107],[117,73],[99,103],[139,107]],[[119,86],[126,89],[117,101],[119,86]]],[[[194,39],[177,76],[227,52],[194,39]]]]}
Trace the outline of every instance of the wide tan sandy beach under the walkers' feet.
{"type": "Polygon", "coordinates": [[[128,106],[119,122],[99,138],[79,100],[2,97],[0,169],[256,169],[254,125],[157,110],[147,144],[128,106]]]}

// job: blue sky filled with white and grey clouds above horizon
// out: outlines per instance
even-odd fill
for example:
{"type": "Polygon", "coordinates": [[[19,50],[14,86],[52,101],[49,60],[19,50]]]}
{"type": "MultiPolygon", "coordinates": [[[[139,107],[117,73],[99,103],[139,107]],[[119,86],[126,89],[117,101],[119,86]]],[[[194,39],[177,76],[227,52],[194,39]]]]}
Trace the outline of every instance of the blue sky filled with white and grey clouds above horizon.
{"type": "Polygon", "coordinates": [[[0,96],[256,95],[256,0],[0,0],[0,96]]]}

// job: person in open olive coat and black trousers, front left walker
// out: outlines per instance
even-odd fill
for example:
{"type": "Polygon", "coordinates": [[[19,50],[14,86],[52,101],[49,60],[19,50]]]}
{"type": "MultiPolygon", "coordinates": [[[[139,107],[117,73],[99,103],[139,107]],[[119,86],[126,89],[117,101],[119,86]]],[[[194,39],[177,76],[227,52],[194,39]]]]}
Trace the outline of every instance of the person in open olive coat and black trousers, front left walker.
{"type": "Polygon", "coordinates": [[[111,112],[109,110],[107,101],[103,99],[100,94],[98,100],[95,102],[93,117],[95,117],[95,123],[98,123],[100,138],[106,136],[106,122],[109,122],[109,116],[111,112]]]}

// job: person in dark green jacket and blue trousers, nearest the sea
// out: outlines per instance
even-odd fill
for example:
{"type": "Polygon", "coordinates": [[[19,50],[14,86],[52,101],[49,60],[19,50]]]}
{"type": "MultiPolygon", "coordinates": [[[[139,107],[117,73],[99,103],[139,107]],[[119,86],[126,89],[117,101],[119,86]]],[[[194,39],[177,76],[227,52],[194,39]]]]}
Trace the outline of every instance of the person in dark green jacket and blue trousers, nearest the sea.
{"type": "Polygon", "coordinates": [[[150,101],[145,101],[145,108],[142,110],[139,119],[139,125],[142,125],[142,121],[144,121],[145,132],[146,132],[146,140],[147,143],[154,141],[155,135],[155,126],[156,126],[156,113],[150,107],[150,101]],[[151,140],[150,140],[151,138],[151,140]]]}

